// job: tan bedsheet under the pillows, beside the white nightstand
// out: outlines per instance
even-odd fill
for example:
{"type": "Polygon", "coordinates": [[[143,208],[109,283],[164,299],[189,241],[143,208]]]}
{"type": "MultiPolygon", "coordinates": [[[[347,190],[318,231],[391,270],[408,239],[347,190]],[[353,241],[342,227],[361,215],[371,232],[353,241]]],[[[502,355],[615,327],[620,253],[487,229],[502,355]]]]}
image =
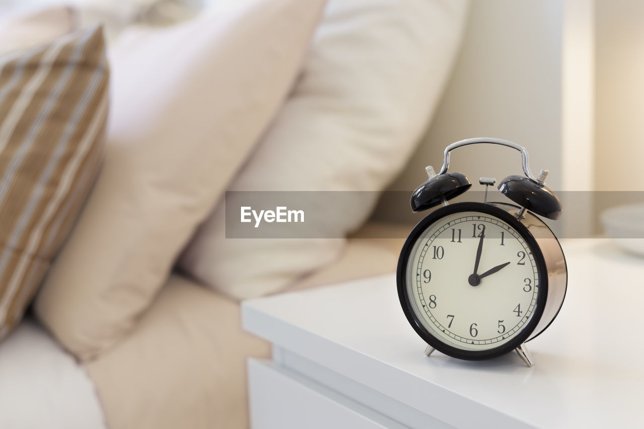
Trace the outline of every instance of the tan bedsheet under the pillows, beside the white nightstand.
{"type": "MultiPolygon", "coordinates": [[[[292,289],[395,271],[404,238],[374,240],[371,230],[292,289]]],[[[244,429],[249,356],[270,356],[270,345],[242,330],[239,303],[175,274],[128,338],[86,365],[111,428],[244,429]]]]}

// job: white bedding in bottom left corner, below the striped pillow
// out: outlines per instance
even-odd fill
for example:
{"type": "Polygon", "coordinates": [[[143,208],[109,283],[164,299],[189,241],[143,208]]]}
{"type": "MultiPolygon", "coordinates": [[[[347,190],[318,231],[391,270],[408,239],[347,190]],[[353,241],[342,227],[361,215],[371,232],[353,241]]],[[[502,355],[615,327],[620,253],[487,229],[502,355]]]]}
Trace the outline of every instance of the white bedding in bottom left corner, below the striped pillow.
{"type": "Polygon", "coordinates": [[[101,429],[86,370],[27,317],[0,344],[0,428],[101,429]]]}

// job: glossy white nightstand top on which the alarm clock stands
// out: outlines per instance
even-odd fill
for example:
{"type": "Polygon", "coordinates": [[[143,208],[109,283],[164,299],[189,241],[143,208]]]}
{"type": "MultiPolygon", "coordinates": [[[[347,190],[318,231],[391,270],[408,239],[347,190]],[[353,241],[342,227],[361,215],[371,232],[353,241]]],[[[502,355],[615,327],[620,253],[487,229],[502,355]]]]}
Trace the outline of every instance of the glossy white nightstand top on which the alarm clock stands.
{"type": "Polygon", "coordinates": [[[644,258],[605,239],[562,247],[567,296],[549,329],[527,343],[532,368],[515,353],[425,357],[393,274],[246,301],[243,323],[453,426],[644,427],[644,258]]]}

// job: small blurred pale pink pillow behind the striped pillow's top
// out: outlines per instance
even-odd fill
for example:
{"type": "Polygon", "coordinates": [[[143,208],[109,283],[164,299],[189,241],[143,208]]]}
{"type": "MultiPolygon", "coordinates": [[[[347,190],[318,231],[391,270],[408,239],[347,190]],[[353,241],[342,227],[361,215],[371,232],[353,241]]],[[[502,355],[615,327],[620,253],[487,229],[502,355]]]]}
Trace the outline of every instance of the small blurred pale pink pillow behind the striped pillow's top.
{"type": "Polygon", "coordinates": [[[3,15],[0,21],[0,55],[51,42],[74,30],[75,13],[64,6],[3,15]]]}

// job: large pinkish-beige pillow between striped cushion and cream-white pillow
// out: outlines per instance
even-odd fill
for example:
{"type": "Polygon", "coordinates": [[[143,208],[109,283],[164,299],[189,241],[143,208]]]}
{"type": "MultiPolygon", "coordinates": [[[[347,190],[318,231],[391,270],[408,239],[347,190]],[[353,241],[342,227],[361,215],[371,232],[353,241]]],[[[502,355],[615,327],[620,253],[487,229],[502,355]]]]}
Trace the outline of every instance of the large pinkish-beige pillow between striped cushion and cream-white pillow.
{"type": "Polygon", "coordinates": [[[322,6],[218,1],[122,36],[105,165],[35,301],[76,356],[97,356],[148,307],[285,97],[322,6]]]}

